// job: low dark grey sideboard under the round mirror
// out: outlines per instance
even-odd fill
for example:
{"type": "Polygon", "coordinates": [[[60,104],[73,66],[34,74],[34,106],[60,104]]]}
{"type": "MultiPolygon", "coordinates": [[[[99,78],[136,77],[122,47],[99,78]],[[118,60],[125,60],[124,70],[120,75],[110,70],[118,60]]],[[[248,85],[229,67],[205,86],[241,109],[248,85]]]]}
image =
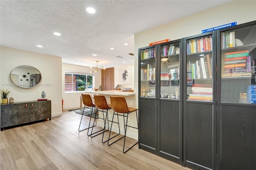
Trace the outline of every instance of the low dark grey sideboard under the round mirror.
{"type": "Polygon", "coordinates": [[[1,104],[1,130],[5,127],[51,119],[51,101],[1,104]]]}

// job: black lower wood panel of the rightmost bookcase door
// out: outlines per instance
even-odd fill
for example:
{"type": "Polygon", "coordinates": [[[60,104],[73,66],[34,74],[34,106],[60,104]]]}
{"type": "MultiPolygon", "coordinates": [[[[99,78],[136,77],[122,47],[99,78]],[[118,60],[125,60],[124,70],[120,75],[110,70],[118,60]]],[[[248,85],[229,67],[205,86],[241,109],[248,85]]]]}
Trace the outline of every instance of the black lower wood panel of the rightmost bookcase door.
{"type": "Polygon", "coordinates": [[[256,107],[221,106],[220,169],[256,167],[256,107]]]}

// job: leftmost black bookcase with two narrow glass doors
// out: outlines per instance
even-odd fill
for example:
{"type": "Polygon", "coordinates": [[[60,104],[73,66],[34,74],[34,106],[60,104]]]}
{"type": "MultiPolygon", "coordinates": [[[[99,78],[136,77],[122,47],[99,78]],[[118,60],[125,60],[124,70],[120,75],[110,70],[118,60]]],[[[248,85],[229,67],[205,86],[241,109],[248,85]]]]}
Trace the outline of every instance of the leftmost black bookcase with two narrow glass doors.
{"type": "Polygon", "coordinates": [[[182,164],[182,40],[139,49],[139,147],[182,164]],[[153,50],[154,49],[154,50],[153,50]],[[154,51],[151,57],[145,57],[154,51]]]}

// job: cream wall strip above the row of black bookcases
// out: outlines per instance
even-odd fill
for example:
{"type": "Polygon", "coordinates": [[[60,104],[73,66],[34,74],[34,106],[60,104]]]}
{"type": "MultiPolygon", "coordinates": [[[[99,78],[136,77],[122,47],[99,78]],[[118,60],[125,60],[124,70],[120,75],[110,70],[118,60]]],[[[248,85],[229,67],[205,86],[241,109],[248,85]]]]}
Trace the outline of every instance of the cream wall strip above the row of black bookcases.
{"type": "MultiPolygon", "coordinates": [[[[181,9],[182,10],[182,9],[181,9]]],[[[147,47],[160,40],[178,40],[201,33],[201,30],[238,22],[243,24],[256,20],[256,1],[234,0],[206,11],[140,32],[134,35],[134,49],[147,47]]],[[[134,53],[134,67],[138,68],[138,53],[134,53]]],[[[134,71],[134,92],[138,100],[138,69],[134,71]]],[[[137,102],[138,103],[138,102],[137,102]]]]}

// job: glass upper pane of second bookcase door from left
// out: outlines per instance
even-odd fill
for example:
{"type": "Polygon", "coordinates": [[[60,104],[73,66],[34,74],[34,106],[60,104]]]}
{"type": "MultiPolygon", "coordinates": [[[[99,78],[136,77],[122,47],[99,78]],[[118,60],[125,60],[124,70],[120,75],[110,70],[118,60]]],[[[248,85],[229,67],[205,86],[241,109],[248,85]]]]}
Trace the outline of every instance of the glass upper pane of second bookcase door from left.
{"type": "Polygon", "coordinates": [[[180,99],[180,42],[160,47],[160,98],[180,99]]]}

